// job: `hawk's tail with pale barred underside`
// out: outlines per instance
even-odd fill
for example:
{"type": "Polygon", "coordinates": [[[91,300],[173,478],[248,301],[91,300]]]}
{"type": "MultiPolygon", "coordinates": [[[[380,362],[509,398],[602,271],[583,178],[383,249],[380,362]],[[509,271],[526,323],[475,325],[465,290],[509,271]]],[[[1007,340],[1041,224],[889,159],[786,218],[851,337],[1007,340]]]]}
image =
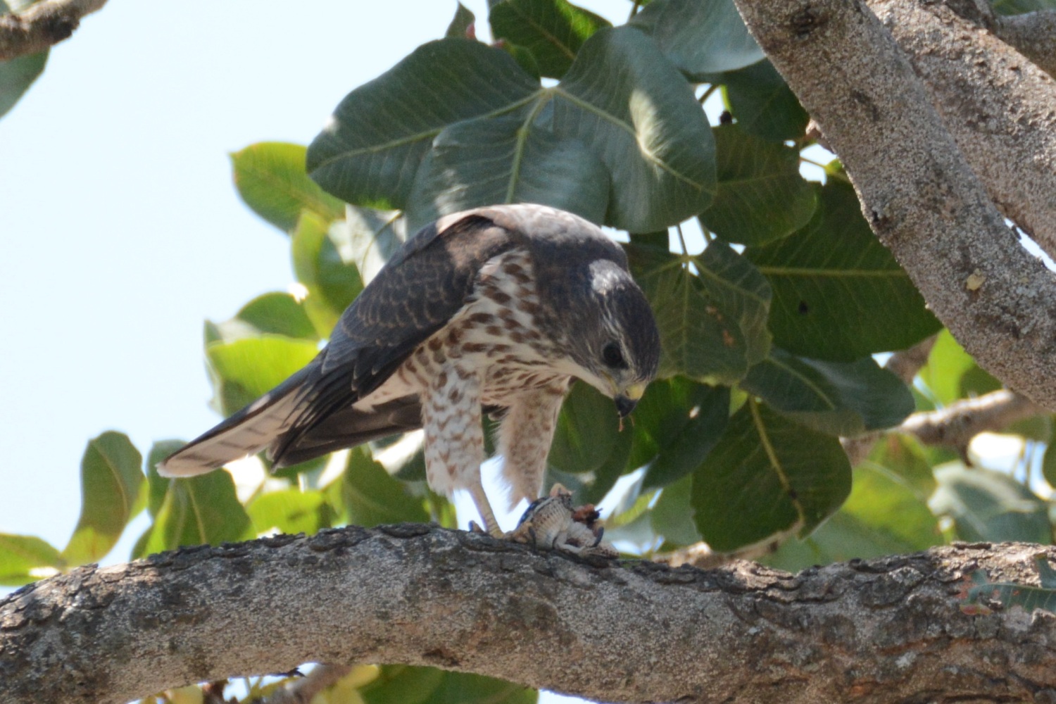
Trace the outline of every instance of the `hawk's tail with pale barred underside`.
{"type": "Polygon", "coordinates": [[[294,375],[158,462],[157,473],[163,477],[193,477],[268,448],[296,420],[304,400],[300,393],[302,381],[301,373],[294,375]]]}

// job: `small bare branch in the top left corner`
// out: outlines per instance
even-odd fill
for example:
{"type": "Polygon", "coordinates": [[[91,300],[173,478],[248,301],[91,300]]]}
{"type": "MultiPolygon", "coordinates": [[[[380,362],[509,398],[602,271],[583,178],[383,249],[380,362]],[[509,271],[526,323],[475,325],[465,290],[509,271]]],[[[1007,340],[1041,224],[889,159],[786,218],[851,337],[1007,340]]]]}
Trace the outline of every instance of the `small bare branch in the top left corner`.
{"type": "Polygon", "coordinates": [[[86,15],[107,0],[43,0],[19,14],[0,15],[0,61],[36,54],[69,39],[86,15]]]}

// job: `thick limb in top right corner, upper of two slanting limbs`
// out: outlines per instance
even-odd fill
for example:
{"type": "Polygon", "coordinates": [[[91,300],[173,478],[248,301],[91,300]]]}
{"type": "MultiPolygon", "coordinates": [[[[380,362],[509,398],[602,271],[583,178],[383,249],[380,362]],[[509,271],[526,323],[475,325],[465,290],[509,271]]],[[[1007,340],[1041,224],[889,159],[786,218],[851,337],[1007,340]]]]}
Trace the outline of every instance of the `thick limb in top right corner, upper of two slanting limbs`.
{"type": "Polygon", "coordinates": [[[986,6],[867,1],[998,209],[1056,256],[1056,80],[991,33],[986,6]]]}

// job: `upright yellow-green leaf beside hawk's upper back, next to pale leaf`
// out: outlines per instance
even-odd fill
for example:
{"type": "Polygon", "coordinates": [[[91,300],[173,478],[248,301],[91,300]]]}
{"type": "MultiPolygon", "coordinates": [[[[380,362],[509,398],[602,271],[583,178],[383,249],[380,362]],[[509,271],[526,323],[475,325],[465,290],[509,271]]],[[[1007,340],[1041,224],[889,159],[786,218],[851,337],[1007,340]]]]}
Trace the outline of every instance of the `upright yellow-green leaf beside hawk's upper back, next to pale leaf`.
{"type": "Polygon", "coordinates": [[[308,294],[304,310],[323,337],[328,337],[348,304],[363,290],[353,263],[353,229],[344,222],[327,223],[303,212],[294,231],[294,273],[308,294]]]}

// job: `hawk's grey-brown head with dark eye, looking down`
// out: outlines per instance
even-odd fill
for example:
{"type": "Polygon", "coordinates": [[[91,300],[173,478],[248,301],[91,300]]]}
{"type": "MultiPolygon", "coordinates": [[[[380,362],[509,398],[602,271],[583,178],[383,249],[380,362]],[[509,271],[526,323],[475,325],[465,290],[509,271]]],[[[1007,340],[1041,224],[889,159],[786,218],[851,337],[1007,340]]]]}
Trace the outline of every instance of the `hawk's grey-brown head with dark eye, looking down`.
{"type": "Polygon", "coordinates": [[[645,294],[618,263],[590,262],[576,293],[566,302],[573,375],[616,401],[626,416],[656,377],[660,334],[645,294]]]}

